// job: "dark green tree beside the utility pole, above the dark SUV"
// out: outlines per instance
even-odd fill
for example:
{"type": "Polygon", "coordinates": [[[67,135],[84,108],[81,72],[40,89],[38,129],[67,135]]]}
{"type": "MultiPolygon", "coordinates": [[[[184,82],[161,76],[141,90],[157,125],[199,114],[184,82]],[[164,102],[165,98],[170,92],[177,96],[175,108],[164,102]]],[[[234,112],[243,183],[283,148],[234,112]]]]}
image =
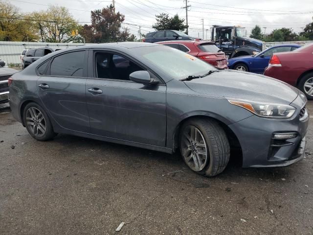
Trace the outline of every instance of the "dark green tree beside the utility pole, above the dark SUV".
{"type": "Polygon", "coordinates": [[[183,24],[185,19],[180,19],[178,14],[174,17],[169,17],[166,13],[161,13],[156,15],[156,24],[153,24],[152,27],[159,30],[179,30],[183,31],[187,28],[187,25],[183,24]]]}

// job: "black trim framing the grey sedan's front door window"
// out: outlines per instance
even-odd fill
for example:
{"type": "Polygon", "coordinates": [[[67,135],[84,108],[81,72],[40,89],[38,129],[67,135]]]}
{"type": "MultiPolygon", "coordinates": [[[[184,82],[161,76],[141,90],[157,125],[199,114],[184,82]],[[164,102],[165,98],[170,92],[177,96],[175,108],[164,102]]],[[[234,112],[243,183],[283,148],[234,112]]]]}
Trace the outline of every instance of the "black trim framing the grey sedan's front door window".
{"type": "Polygon", "coordinates": [[[142,67],[144,70],[148,71],[150,74],[153,74],[159,81],[160,83],[158,83],[157,85],[159,86],[166,86],[164,80],[157,75],[157,73],[153,70],[151,70],[149,67],[147,67],[146,65],[142,64],[140,61],[136,60],[135,58],[131,57],[129,54],[126,54],[122,51],[118,51],[118,50],[114,50],[114,49],[102,49],[102,48],[90,48],[89,50],[89,75],[88,75],[88,79],[96,79],[96,80],[108,80],[108,81],[119,81],[119,82],[132,82],[135,83],[131,80],[122,80],[122,79],[111,79],[111,78],[102,78],[102,77],[95,77],[96,76],[96,64],[95,62],[95,54],[97,52],[106,52],[106,53],[112,53],[112,54],[116,54],[122,57],[125,57],[126,59],[132,61],[133,63],[137,64],[138,66],[142,67]]]}

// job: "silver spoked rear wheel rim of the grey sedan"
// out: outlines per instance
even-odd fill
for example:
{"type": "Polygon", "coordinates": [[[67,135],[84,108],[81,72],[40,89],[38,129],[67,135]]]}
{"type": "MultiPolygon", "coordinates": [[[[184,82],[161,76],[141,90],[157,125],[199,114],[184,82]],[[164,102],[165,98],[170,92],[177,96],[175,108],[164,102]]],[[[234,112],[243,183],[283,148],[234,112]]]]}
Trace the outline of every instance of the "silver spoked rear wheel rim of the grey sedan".
{"type": "Polygon", "coordinates": [[[37,137],[45,135],[46,125],[44,115],[35,107],[31,107],[26,112],[26,125],[37,137]]]}

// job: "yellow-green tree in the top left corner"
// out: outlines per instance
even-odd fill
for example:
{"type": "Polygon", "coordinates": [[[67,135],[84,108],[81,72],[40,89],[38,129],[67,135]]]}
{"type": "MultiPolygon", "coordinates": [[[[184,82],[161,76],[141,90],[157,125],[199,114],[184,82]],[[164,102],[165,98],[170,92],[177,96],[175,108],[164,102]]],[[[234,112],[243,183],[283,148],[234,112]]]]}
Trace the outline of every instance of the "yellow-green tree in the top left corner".
{"type": "Polygon", "coordinates": [[[36,32],[29,27],[20,9],[8,2],[0,1],[0,40],[32,41],[37,39],[36,32]]]}

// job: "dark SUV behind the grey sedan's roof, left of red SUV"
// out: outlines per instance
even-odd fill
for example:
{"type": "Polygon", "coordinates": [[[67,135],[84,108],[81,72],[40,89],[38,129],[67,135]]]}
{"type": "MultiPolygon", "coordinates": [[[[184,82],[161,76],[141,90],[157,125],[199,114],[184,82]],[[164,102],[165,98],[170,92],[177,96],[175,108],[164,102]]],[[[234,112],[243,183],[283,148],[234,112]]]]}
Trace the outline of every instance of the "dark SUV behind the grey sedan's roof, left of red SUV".
{"type": "Polygon", "coordinates": [[[187,34],[177,31],[177,30],[162,30],[152,33],[147,33],[143,42],[146,43],[156,43],[161,41],[171,41],[171,40],[201,40],[200,38],[195,38],[188,36],[187,34]]]}

